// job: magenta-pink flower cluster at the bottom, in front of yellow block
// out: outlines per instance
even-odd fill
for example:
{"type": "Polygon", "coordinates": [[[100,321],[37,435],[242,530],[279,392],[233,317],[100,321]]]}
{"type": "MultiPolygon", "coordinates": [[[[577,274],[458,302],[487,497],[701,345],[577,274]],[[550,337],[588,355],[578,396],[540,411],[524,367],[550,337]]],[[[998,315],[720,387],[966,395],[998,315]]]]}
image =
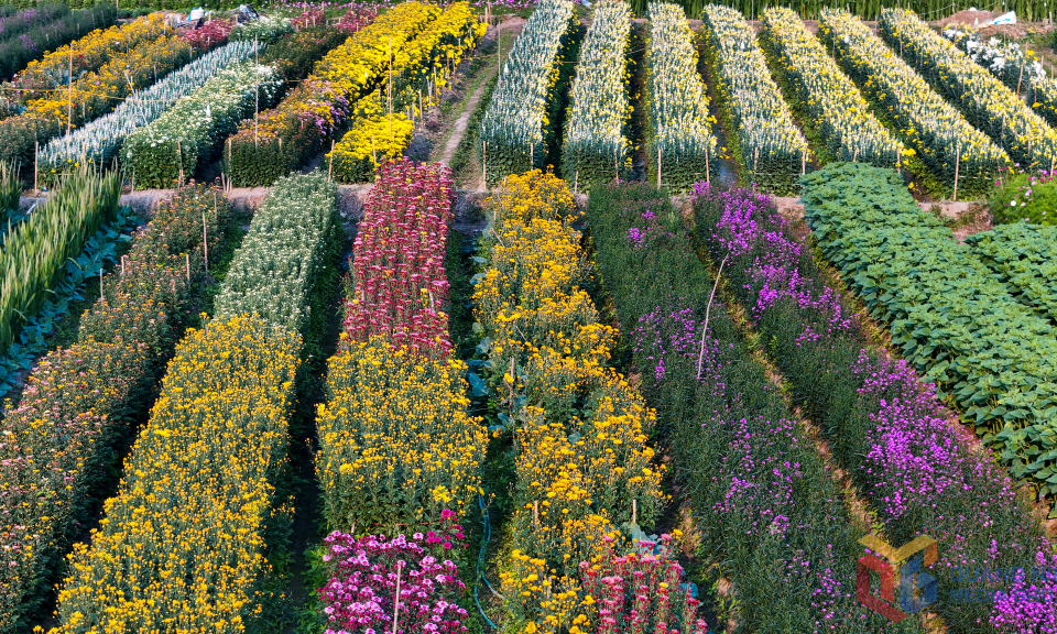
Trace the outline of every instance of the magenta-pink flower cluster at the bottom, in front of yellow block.
{"type": "MultiPolygon", "coordinates": [[[[444,517],[450,521],[454,513],[445,511],[444,517]]],[[[411,539],[331,533],[323,556],[331,579],[318,590],[328,621],[326,634],[465,633],[467,612],[456,598],[466,586],[458,578],[458,566],[445,557],[453,548],[465,547],[464,539],[454,524],[415,533],[411,539]]]]}

